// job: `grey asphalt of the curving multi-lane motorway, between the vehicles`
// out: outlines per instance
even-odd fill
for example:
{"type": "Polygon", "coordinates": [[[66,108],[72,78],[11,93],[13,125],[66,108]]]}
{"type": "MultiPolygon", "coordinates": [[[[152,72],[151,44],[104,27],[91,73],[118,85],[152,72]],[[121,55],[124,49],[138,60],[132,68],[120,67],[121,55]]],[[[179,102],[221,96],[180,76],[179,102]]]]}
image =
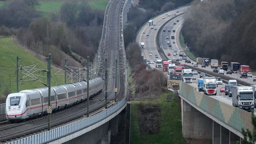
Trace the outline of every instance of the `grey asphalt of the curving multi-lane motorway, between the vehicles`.
{"type": "MultiPolygon", "coordinates": [[[[156,38],[157,38],[158,31],[162,25],[163,25],[163,29],[160,32],[160,36],[159,36],[160,48],[163,49],[166,56],[168,53],[171,53],[170,56],[167,56],[170,60],[172,60],[173,58],[175,58],[175,59],[182,58],[179,55],[173,56],[173,53],[174,53],[174,49],[183,50],[183,48],[179,42],[179,33],[182,28],[182,23],[184,21],[182,13],[185,12],[186,9],[187,9],[187,7],[182,7],[180,9],[166,12],[166,13],[170,13],[171,16],[167,16],[165,13],[163,13],[163,14],[160,14],[157,17],[153,18],[154,23],[156,24],[156,26],[154,26],[154,28],[157,27],[157,30],[151,29],[151,26],[148,26],[148,24],[146,24],[142,27],[142,29],[138,33],[136,42],[138,42],[138,43],[145,42],[145,49],[141,49],[141,53],[144,56],[144,59],[147,59],[147,60],[165,59],[165,58],[162,58],[161,55],[159,55],[159,58],[155,58],[155,55],[154,55],[155,53],[158,53],[156,38]],[[179,12],[177,12],[177,11],[179,11],[179,12]],[[176,13],[176,16],[172,17],[172,15],[174,15],[174,13],[176,13]],[[163,19],[162,17],[165,17],[165,19],[163,19]],[[167,22],[168,20],[170,20],[170,21],[167,22]],[[177,22],[177,20],[178,20],[178,22],[177,22]],[[176,23],[176,25],[174,25],[174,22],[176,23]],[[164,23],[166,23],[166,24],[164,25],[164,23]],[[165,30],[165,32],[163,30],[165,30]],[[168,32],[168,30],[170,30],[170,32],[168,32]],[[172,30],[175,30],[175,32],[172,32],[172,30]],[[143,32],[144,32],[144,34],[143,34],[143,32]],[[148,34],[148,36],[146,34],[148,34]],[[167,36],[169,37],[168,39],[166,38],[167,36]],[[171,36],[175,36],[175,39],[174,40],[171,39],[171,36]],[[171,47],[169,47],[169,44],[167,44],[167,41],[170,42],[171,47]],[[175,43],[173,43],[173,41],[175,41],[175,43]],[[153,52],[153,55],[149,56],[149,52],[153,52]]],[[[179,62],[185,63],[184,60],[179,61],[179,62]]],[[[193,62],[196,63],[195,61],[191,60],[191,63],[185,63],[185,64],[193,66],[192,65],[193,62]]],[[[155,64],[150,64],[150,66],[152,68],[155,68],[155,64]]],[[[198,68],[201,69],[201,65],[198,65],[198,68]]],[[[158,68],[158,69],[162,70],[162,68],[158,68]]],[[[202,69],[206,69],[208,71],[213,70],[210,66],[206,66],[206,68],[202,68],[202,69]]],[[[167,72],[166,72],[166,75],[168,75],[167,72]]],[[[226,71],[225,71],[224,75],[228,75],[230,79],[236,78],[236,79],[245,81],[247,83],[250,83],[252,85],[256,84],[256,82],[253,82],[252,78],[247,78],[247,79],[246,78],[238,78],[238,74],[230,75],[230,74],[226,74],[226,71]]],[[[198,79],[199,75],[196,77],[198,79]]],[[[197,88],[198,87],[197,80],[193,80],[193,83],[190,83],[189,85],[197,88]]],[[[222,93],[219,92],[219,88],[222,86],[225,87],[225,84],[223,83],[223,85],[219,85],[217,87],[217,95],[216,96],[215,95],[209,95],[209,96],[213,97],[219,101],[222,101],[224,103],[227,103],[229,105],[232,105],[232,97],[228,97],[223,92],[222,93]]]]}

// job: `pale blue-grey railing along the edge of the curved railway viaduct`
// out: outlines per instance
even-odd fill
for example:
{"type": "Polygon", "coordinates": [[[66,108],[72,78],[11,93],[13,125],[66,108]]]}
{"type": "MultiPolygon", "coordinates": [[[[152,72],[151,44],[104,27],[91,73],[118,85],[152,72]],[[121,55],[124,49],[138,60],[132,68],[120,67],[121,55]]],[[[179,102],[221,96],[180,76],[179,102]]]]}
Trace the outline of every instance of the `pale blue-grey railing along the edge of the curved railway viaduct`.
{"type": "Polygon", "coordinates": [[[87,118],[84,118],[80,121],[52,129],[50,131],[46,131],[40,134],[32,135],[23,139],[15,140],[12,142],[8,142],[7,144],[37,144],[37,143],[48,143],[51,141],[54,141],[56,139],[65,137],[67,135],[70,135],[72,133],[78,132],[84,128],[87,128],[93,124],[96,124],[106,117],[109,117],[110,115],[114,114],[116,111],[118,111],[120,108],[122,108],[124,105],[126,105],[126,97],[117,103],[116,105],[108,108],[107,110],[104,110],[100,113],[97,113],[95,115],[89,116],[87,118]]]}

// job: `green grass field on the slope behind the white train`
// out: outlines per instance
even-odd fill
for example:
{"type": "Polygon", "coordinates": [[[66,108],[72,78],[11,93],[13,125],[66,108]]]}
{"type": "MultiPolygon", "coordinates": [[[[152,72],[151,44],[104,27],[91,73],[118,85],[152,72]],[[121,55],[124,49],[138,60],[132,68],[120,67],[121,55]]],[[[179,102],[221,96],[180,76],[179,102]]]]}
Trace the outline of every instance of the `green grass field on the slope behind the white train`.
{"type": "MultiPolygon", "coordinates": [[[[35,56],[32,56],[29,52],[25,51],[24,49],[20,48],[18,45],[12,43],[11,39],[9,37],[0,37],[0,96],[5,96],[4,91],[6,89],[10,89],[11,93],[16,92],[16,57],[18,55],[19,57],[19,66],[27,66],[31,64],[38,65],[35,68],[38,69],[47,69],[47,63],[45,63],[43,60],[38,59],[35,56]]],[[[29,68],[26,68],[29,69],[29,68]]],[[[24,70],[24,73],[27,73],[24,70]]],[[[32,71],[31,71],[32,72],[32,71]]],[[[64,84],[64,75],[62,73],[60,76],[53,76],[53,74],[56,72],[56,70],[51,70],[51,86],[64,84]]],[[[39,80],[43,81],[45,84],[47,84],[47,73],[44,72],[38,72],[35,74],[39,74],[41,76],[44,76],[45,78],[38,77],[39,80]]],[[[21,79],[24,74],[19,72],[19,79],[21,79]]],[[[23,80],[29,80],[31,78],[24,78],[23,80]]],[[[19,91],[25,90],[25,89],[33,89],[33,88],[40,88],[40,87],[46,87],[42,83],[39,83],[37,81],[25,81],[21,82],[19,81],[19,91]]]]}

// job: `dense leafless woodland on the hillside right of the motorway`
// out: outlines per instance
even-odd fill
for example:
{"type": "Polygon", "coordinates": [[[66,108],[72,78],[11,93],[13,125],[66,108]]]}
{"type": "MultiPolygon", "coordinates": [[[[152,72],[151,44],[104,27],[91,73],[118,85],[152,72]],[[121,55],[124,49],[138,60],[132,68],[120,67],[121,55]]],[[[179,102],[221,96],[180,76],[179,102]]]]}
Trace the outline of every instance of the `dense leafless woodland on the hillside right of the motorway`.
{"type": "Polygon", "coordinates": [[[182,33],[197,57],[240,62],[256,69],[255,16],[255,0],[194,1],[182,33]]]}

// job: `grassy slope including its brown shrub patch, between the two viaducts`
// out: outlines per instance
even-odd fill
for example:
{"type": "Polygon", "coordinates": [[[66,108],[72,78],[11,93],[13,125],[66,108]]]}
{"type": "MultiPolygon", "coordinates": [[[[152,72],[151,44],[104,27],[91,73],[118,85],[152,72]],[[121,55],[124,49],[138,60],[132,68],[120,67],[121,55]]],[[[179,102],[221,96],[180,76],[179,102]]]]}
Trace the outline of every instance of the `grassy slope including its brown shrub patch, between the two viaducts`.
{"type": "Polygon", "coordinates": [[[186,144],[182,137],[180,99],[166,102],[166,94],[154,100],[132,101],[131,139],[133,144],[169,143],[186,144]]]}

